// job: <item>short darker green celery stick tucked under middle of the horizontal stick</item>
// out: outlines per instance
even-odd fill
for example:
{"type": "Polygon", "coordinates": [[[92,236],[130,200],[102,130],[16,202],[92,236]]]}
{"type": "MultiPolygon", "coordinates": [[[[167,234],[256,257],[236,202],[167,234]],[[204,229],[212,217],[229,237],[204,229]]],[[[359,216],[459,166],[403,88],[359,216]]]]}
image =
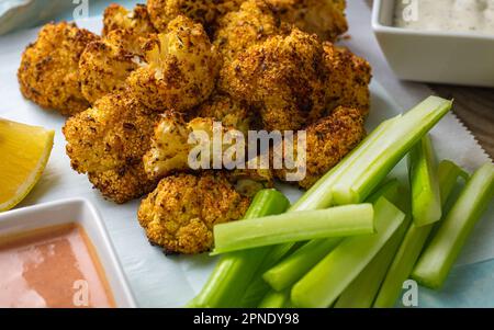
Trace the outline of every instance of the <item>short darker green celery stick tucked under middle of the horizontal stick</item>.
{"type": "Polygon", "coordinates": [[[267,271],[262,278],[276,291],[289,288],[341,241],[341,238],[312,240],[267,271]]]}

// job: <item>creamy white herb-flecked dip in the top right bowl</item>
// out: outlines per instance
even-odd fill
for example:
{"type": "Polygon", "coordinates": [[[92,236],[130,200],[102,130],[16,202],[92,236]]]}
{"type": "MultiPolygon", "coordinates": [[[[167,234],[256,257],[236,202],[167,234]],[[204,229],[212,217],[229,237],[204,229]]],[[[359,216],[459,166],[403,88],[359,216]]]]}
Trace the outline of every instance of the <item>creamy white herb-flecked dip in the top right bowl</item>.
{"type": "Polygon", "coordinates": [[[395,0],[394,26],[494,35],[494,0],[395,0]]]}

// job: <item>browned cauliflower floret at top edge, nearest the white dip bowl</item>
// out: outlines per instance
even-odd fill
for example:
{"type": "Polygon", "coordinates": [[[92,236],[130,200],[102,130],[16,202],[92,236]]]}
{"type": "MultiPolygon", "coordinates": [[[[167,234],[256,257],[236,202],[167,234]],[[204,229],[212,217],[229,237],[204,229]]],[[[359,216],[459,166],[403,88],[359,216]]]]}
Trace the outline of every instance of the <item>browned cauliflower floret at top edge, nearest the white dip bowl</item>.
{"type": "Polygon", "coordinates": [[[283,22],[323,41],[336,41],[348,30],[346,0],[266,0],[283,22]]]}

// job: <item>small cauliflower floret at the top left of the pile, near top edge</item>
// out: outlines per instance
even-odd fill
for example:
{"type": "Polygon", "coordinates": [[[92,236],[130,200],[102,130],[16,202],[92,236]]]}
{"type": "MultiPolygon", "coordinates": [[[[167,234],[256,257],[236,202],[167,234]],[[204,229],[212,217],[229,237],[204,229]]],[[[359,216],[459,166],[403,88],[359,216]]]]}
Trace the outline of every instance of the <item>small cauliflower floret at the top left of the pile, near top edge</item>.
{"type": "Polygon", "coordinates": [[[116,3],[110,4],[103,15],[103,36],[114,30],[127,31],[134,41],[156,33],[145,4],[137,4],[133,11],[116,3]]]}

